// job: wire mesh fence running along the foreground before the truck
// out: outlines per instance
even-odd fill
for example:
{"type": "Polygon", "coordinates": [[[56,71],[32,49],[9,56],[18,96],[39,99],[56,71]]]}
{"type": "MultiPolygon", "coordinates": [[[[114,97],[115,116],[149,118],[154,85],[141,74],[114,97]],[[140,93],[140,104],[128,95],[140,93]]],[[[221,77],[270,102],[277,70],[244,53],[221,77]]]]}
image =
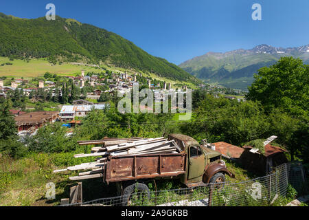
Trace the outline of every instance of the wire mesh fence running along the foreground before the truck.
{"type": "Polygon", "coordinates": [[[239,183],[216,183],[174,190],[133,192],[65,206],[269,206],[284,197],[288,184],[299,193],[307,189],[301,164],[282,164],[273,172],[239,183]]]}

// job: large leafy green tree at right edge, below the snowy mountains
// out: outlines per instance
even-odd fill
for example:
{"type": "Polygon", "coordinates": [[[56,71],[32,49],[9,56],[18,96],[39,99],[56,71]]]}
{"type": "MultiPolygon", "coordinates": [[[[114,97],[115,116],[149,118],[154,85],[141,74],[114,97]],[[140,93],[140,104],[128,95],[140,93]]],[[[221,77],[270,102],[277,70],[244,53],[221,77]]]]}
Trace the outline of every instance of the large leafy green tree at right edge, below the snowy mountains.
{"type": "Polygon", "coordinates": [[[282,57],[271,67],[262,67],[249,87],[249,100],[260,101],[266,110],[284,109],[305,118],[309,107],[309,65],[301,59],[282,57]]]}

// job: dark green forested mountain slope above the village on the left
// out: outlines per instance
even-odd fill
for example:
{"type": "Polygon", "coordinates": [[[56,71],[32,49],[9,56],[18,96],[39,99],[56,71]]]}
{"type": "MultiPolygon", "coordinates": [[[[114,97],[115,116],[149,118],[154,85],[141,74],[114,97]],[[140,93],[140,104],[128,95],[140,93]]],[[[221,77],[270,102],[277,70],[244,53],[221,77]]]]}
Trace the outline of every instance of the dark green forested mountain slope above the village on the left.
{"type": "Polygon", "coordinates": [[[151,56],[122,36],[74,19],[18,19],[0,13],[0,30],[0,56],[48,58],[51,63],[104,63],[171,80],[198,81],[178,66],[151,56]]]}

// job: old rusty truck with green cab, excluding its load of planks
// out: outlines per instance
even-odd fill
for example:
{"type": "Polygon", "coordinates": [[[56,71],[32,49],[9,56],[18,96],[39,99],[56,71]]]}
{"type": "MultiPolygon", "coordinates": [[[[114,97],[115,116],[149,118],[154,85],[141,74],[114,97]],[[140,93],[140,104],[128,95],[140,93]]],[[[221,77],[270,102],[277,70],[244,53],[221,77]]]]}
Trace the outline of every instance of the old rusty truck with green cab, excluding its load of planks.
{"type": "Polygon", "coordinates": [[[133,192],[149,194],[147,184],[154,179],[179,179],[191,188],[225,182],[225,175],[234,178],[217,151],[198,144],[187,135],[170,134],[168,140],[174,140],[181,152],[108,156],[103,181],[107,184],[115,182],[118,195],[124,195],[128,200],[133,192]]]}

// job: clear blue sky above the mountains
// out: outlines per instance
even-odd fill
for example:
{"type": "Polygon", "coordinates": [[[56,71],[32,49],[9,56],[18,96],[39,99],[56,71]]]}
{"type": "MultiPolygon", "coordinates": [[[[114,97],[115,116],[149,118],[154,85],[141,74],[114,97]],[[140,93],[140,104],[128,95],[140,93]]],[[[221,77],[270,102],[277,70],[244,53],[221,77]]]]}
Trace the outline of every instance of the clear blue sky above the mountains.
{"type": "MultiPolygon", "coordinates": [[[[0,12],[44,17],[56,14],[115,32],[149,54],[180,64],[207,52],[309,44],[308,0],[1,0],[0,12]],[[253,21],[253,3],[262,5],[262,21],[253,21]]],[[[1,30],[0,30],[1,31],[1,30]]]]}

